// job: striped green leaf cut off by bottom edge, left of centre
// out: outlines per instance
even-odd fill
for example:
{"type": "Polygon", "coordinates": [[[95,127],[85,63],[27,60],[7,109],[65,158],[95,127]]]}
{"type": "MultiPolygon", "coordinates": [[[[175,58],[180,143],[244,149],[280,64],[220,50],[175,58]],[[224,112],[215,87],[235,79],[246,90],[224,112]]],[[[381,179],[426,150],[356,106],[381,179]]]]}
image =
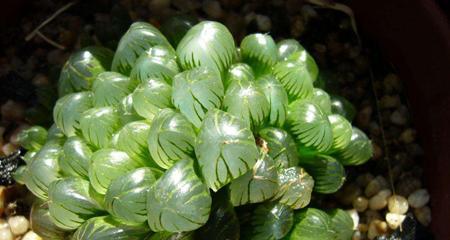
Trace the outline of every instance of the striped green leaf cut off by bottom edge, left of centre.
{"type": "Polygon", "coordinates": [[[144,226],[124,225],[111,216],[103,216],[86,221],[73,234],[72,240],[142,240],[150,234],[144,226]]]}

